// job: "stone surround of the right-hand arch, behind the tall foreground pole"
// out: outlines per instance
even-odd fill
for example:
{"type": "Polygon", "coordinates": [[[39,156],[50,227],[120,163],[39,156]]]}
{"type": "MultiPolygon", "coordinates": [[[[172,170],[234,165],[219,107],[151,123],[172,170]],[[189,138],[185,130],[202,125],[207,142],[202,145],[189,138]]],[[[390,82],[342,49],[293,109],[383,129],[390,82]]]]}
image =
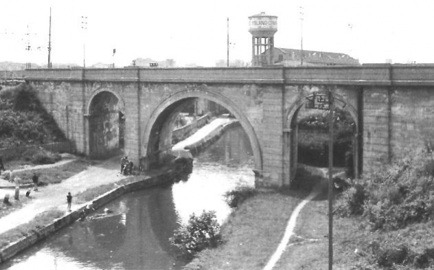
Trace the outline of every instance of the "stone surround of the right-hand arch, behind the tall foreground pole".
{"type": "MultiPolygon", "coordinates": [[[[328,92],[325,90],[319,90],[315,92],[316,95],[323,94],[328,95],[328,92]]],[[[295,172],[297,170],[297,115],[302,106],[306,105],[308,102],[308,98],[312,98],[314,93],[308,93],[306,95],[301,96],[298,100],[296,100],[286,111],[285,113],[285,121],[284,121],[284,184],[290,185],[290,181],[292,181],[295,177],[295,172]]],[[[358,111],[350,102],[347,102],[345,98],[337,93],[333,93],[334,97],[334,106],[350,113],[352,120],[354,121],[354,136],[352,138],[352,146],[353,146],[353,166],[354,166],[354,176],[358,177],[359,171],[361,168],[360,158],[361,157],[361,140],[360,137],[360,123],[358,117],[358,111]]]]}

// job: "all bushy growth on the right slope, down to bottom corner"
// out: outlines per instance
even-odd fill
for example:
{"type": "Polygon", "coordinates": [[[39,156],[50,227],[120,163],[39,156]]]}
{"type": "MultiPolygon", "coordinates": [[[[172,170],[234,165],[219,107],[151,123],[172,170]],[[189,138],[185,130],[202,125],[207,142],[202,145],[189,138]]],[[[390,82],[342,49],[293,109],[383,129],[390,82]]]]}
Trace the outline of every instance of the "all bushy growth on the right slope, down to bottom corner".
{"type": "Polygon", "coordinates": [[[365,229],[378,235],[362,247],[372,264],[402,267],[396,269],[434,267],[433,241],[404,237],[407,232],[423,236],[434,221],[433,151],[425,148],[352,180],[339,195],[334,213],[358,218],[365,229]]]}

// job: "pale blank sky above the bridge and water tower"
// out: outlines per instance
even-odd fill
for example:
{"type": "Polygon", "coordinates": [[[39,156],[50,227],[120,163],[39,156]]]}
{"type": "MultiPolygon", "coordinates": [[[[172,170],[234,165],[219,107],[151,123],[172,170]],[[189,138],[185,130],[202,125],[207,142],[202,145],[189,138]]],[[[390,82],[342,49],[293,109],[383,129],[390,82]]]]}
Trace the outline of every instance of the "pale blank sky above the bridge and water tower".
{"type": "Polygon", "coordinates": [[[249,16],[260,12],[277,16],[275,47],[300,49],[302,36],[304,49],[361,63],[434,63],[432,0],[0,0],[0,62],[47,64],[50,8],[52,63],[214,67],[227,58],[227,18],[230,60],[250,62],[249,16]]]}

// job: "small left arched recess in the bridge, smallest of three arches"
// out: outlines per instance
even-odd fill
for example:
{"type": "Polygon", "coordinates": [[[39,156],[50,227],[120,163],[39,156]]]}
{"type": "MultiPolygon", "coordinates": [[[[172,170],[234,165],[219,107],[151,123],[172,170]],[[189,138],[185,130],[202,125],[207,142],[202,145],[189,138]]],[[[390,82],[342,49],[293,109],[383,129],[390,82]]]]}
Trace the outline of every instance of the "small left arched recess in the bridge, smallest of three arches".
{"type": "Polygon", "coordinates": [[[93,90],[85,107],[86,147],[87,154],[92,157],[109,157],[124,148],[125,102],[122,96],[111,88],[98,87],[93,90]],[[104,103],[104,95],[112,103],[115,102],[115,111],[98,114],[98,109],[95,110],[93,106],[101,106],[104,103]],[[98,100],[98,97],[101,100],[98,100]]]}

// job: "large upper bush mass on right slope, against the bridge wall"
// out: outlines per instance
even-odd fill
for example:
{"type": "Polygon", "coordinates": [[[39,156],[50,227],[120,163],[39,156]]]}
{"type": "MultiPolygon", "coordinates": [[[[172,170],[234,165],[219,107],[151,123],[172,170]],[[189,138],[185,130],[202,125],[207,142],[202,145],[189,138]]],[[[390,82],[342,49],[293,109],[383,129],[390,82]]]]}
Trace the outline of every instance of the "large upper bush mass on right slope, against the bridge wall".
{"type": "Polygon", "coordinates": [[[432,219],[433,155],[427,151],[408,155],[354,181],[336,204],[336,212],[363,214],[372,229],[400,229],[432,219]]]}

